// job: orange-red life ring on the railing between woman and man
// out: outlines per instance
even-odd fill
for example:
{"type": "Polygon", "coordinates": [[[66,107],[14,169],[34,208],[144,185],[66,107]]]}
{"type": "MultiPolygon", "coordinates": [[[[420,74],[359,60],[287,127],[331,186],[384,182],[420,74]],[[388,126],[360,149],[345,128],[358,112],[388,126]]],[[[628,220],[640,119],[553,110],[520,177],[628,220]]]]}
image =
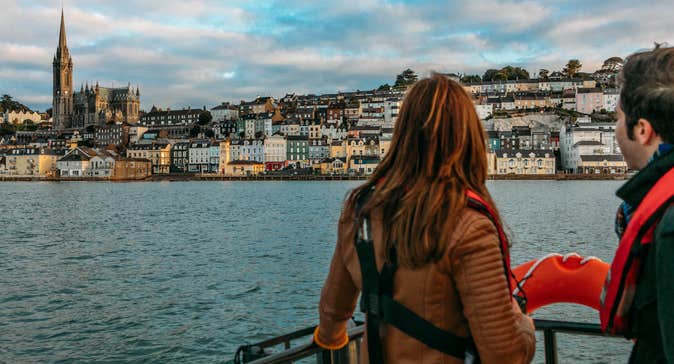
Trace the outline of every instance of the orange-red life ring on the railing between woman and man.
{"type": "Polygon", "coordinates": [[[609,264],[596,257],[583,258],[576,253],[548,254],[513,269],[519,286],[513,283],[514,295],[524,291],[527,312],[552,303],[577,303],[599,310],[599,296],[608,274],[609,264]]]}

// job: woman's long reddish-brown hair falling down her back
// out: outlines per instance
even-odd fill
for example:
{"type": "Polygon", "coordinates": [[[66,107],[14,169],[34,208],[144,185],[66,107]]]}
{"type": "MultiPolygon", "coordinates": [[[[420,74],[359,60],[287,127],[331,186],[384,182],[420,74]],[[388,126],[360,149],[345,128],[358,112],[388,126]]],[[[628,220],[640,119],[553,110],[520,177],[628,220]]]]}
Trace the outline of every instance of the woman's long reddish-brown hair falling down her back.
{"type": "Polygon", "coordinates": [[[381,208],[387,259],[395,247],[399,265],[421,267],[445,252],[466,189],[494,206],[486,179],[485,132],[470,97],[459,83],[433,74],[408,91],[388,154],[349,194],[342,219],[360,219],[356,201],[375,187],[361,216],[381,208]]]}

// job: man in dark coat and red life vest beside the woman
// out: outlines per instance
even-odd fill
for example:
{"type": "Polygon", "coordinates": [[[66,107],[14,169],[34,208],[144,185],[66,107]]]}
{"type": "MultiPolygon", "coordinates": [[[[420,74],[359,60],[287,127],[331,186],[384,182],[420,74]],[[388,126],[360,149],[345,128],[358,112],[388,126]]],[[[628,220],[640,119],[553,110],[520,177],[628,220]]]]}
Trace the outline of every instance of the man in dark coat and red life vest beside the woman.
{"type": "Polygon", "coordinates": [[[636,339],[630,363],[674,363],[674,48],[633,54],[620,83],[616,139],[639,173],[617,192],[602,327],[636,339]]]}

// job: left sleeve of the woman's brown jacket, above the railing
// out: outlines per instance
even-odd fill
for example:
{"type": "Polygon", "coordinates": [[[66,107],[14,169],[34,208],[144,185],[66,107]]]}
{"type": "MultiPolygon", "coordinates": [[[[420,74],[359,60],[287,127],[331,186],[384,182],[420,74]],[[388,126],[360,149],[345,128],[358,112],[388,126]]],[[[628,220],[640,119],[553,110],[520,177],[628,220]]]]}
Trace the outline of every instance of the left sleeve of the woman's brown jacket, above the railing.
{"type": "Polygon", "coordinates": [[[348,238],[351,233],[347,230],[340,223],[330,272],[321,291],[320,324],[314,334],[317,344],[331,349],[347,344],[347,321],[353,315],[360,294],[345,264],[344,244],[352,243],[352,239],[348,238]]]}

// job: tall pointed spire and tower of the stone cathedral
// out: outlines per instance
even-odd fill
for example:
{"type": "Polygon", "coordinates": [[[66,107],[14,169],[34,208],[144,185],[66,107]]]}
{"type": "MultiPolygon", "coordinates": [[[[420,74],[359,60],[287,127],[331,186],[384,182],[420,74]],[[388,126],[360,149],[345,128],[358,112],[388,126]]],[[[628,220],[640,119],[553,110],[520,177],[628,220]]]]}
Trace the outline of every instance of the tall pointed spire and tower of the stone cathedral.
{"type": "Polygon", "coordinates": [[[52,116],[54,129],[60,130],[71,126],[73,114],[73,60],[70,58],[66,43],[66,26],[61,9],[61,31],[59,45],[56,48],[53,63],[54,71],[54,98],[52,116]]]}

